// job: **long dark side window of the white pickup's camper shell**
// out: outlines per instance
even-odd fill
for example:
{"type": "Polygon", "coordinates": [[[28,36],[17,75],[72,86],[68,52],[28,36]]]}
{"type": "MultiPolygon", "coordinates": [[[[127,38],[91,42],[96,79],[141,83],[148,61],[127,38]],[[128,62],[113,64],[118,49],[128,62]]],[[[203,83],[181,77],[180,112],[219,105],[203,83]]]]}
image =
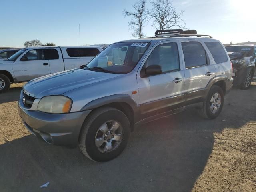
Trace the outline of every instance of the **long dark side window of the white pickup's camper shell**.
{"type": "Polygon", "coordinates": [[[95,57],[100,51],[95,48],[68,48],[67,53],[70,57],[95,57]]]}

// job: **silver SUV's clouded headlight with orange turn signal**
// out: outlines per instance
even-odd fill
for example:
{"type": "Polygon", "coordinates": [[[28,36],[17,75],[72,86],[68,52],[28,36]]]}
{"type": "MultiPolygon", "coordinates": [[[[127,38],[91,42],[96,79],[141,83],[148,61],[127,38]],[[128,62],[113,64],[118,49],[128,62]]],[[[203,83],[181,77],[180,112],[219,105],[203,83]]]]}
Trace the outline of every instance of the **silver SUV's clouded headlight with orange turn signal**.
{"type": "Polygon", "coordinates": [[[72,106],[72,100],[65,96],[46,96],[43,97],[37,110],[46,113],[68,113],[72,106]]]}

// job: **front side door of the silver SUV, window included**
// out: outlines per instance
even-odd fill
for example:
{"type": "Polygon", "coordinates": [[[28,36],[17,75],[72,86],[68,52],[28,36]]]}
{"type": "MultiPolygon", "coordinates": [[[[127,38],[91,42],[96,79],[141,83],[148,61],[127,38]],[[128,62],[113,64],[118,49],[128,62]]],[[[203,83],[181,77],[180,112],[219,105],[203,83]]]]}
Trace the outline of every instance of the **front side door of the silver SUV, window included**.
{"type": "Polygon", "coordinates": [[[148,54],[137,80],[142,114],[159,114],[181,106],[185,81],[178,42],[156,44],[148,54]],[[141,77],[150,65],[159,65],[162,73],[141,77]]]}

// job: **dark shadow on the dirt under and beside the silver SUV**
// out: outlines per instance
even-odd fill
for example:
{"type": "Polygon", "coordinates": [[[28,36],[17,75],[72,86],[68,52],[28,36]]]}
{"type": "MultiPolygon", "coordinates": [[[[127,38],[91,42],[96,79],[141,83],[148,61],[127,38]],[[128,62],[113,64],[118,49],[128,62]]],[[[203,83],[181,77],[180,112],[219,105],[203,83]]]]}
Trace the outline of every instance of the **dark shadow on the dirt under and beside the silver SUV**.
{"type": "Polygon", "coordinates": [[[256,85],[232,89],[215,120],[191,109],[145,124],[131,134],[126,150],[106,163],[92,162],[78,148],[25,136],[0,145],[0,186],[38,191],[50,182],[44,191],[190,191],[212,152],[214,133],[256,121],[255,101],[256,85]]]}

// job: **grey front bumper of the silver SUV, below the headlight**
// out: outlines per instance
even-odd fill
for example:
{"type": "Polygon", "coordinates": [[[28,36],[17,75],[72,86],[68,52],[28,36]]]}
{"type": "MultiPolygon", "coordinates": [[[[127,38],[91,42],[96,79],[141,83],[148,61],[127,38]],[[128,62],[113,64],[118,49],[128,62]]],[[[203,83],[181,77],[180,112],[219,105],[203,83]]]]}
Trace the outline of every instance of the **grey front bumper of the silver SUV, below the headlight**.
{"type": "Polygon", "coordinates": [[[48,114],[26,110],[18,104],[26,128],[49,144],[76,147],[80,130],[91,110],[67,114],[48,114]]]}

